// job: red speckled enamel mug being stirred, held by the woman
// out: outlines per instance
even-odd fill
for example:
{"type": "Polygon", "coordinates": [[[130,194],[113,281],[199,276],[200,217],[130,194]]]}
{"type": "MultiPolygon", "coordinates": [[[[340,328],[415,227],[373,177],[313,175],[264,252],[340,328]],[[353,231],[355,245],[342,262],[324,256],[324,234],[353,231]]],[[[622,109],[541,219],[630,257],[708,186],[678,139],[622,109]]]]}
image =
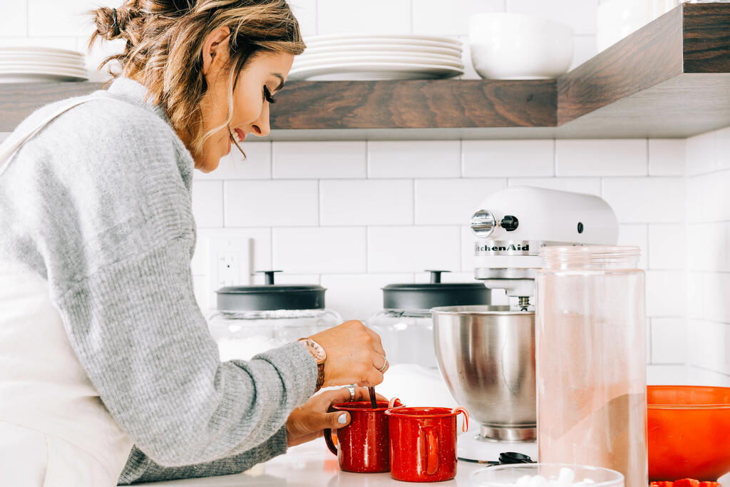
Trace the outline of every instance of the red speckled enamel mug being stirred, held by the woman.
{"type": "Polygon", "coordinates": [[[324,430],[324,440],[330,451],[337,455],[339,468],[345,472],[388,472],[388,408],[400,404],[399,399],[378,401],[373,409],[369,401],[340,402],[332,409],[350,413],[350,424],[337,430],[337,446],[330,429],[324,430]]]}

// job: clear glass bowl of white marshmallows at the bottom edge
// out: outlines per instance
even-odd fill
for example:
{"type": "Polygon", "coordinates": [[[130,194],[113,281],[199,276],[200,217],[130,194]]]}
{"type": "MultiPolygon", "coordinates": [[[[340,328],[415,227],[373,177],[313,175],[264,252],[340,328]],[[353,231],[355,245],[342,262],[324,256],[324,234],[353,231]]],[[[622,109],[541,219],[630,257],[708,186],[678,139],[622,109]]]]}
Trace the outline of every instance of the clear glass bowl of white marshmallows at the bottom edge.
{"type": "Polygon", "coordinates": [[[523,479],[526,475],[533,478],[536,475],[542,475],[546,482],[542,483],[545,487],[558,486],[557,483],[561,469],[571,469],[575,478],[566,485],[575,485],[578,482],[584,482],[585,487],[623,487],[623,474],[611,469],[602,467],[588,467],[585,465],[572,464],[512,464],[497,465],[496,467],[485,467],[478,469],[469,475],[469,486],[471,487],[509,487],[509,486],[526,486],[531,483],[525,483],[523,479]],[[555,482],[551,482],[554,480],[555,482]]]}

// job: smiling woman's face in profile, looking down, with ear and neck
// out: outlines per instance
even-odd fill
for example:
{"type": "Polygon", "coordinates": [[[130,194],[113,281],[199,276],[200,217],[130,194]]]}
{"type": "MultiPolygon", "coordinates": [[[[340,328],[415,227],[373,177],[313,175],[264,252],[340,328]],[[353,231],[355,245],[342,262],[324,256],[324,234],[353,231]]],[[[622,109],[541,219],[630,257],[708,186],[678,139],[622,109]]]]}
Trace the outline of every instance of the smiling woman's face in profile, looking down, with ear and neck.
{"type": "MultiPolygon", "coordinates": [[[[203,52],[203,74],[207,91],[201,101],[204,132],[220,127],[228,118],[230,95],[227,27],[212,32],[203,52]]],[[[239,73],[233,92],[233,112],[227,127],[218,129],[203,144],[196,155],[195,166],[202,172],[218,167],[220,158],[231,152],[231,137],[240,143],[249,134],[264,137],[269,134],[269,104],[284,86],[294,56],[286,53],[259,51],[250,57],[239,73]]]]}

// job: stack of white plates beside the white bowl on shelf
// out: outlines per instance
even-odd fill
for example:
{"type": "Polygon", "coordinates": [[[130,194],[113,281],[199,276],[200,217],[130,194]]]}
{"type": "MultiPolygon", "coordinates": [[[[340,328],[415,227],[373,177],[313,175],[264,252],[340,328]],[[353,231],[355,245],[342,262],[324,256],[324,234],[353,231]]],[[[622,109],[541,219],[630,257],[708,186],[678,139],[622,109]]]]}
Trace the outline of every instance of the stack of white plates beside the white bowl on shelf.
{"type": "Polygon", "coordinates": [[[429,80],[464,74],[461,42],[416,34],[333,34],[304,39],[290,80],[429,80]]]}

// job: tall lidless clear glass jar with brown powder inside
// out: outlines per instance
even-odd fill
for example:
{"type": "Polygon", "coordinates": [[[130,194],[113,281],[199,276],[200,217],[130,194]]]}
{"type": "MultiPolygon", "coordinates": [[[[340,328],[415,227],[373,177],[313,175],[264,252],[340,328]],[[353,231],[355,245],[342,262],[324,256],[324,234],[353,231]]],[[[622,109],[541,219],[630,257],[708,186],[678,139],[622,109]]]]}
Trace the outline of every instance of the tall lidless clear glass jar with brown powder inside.
{"type": "Polygon", "coordinates": [[[645,280],[639,248],[540,250],[537,442],[541,462],[648,483],[645,280]]]}

